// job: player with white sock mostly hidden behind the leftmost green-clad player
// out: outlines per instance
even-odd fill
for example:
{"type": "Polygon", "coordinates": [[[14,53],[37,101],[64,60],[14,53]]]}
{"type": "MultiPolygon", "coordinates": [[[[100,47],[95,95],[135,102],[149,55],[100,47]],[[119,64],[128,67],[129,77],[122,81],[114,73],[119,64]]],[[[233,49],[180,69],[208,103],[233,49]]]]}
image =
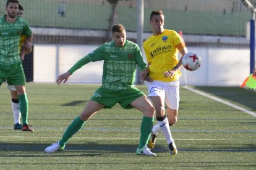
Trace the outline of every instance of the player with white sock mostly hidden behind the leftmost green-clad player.
{"type": "MultiPolygon", "coordinates": [[[[19,4],[18,17],[23,17],[23,7],[19,4]]],[[[30,53],[32,50],[31,42],[26,40],[25,34],[20,36],[20,60],[24,59],[25,54],[30,53]]],[[[12,113],[14,115],[14,130],[21,130],[22,124],[20,124],[20,107],[19,107],[19,97],[14,85],[9,85],[8,89],[11,91],[12,96],[12,113]]]]}

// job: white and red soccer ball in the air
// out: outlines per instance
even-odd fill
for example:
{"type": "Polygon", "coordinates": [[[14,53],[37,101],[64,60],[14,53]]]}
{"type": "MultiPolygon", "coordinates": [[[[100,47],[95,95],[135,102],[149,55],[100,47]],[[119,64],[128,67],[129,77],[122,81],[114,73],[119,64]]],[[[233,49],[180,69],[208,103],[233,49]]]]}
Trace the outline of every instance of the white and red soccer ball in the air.
{"type": "Polygon", "coordinates": [[[197,70],[201,66],[201,57],[197,52],[187,52],[182,58],[182,65],[189,71],[197,70]]]}

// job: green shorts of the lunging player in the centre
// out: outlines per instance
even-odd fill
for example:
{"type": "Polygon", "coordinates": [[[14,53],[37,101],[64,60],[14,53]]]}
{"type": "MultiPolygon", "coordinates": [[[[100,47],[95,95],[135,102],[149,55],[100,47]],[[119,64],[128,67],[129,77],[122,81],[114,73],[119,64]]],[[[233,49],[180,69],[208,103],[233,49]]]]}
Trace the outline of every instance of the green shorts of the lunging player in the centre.
{"type": "Polygon", "coordinates": [[[119,103],[122,108],[132,108],[130,103],[141,97],[143,94],[137,88],[131,88],[124,91],[110,91],[104,87],[98,88],[90,100],[105,105],[105,108],[112,108],[116,103],[119,103]]]}

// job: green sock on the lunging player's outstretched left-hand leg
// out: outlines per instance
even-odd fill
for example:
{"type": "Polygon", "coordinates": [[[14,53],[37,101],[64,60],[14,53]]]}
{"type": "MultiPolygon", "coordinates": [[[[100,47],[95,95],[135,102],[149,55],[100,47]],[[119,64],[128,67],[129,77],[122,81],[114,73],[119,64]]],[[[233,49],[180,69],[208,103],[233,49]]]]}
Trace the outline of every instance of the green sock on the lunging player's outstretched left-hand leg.
{"type": "Polygon", "coordinates": [[[81,129],[83,127],[83,124],[85,124],[85,121],[82,121],[79,116],[77,116],[72,123],[69,125],[69,127],[67,127],[66,131],[64,132],[62,139],[59,140],[59,145],[61,145],[61,147],[64,147],[67,142],[69,141],[69,139],[74,136],[74,134],[76,132],[79,131],[79,129],[81,129]]]}

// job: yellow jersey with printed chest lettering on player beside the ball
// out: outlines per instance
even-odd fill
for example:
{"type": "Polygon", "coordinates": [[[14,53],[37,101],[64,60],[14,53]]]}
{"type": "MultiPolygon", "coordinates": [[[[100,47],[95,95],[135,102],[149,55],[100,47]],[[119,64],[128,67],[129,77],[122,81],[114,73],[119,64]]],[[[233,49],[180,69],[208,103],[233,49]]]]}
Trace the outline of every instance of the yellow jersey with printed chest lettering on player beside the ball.
{"type": "Polygon", "coordinates": [[[164,71],[172,70],[179,62],[179,50],[186,47],[181,36],[174,30],[164,30],[163,33],[151,35],[143,42],[143,48],[150,63],[150,78],[156,81],[175,81],[180,78],[181,71],[173,78],[164,78],[164,71]]]}

